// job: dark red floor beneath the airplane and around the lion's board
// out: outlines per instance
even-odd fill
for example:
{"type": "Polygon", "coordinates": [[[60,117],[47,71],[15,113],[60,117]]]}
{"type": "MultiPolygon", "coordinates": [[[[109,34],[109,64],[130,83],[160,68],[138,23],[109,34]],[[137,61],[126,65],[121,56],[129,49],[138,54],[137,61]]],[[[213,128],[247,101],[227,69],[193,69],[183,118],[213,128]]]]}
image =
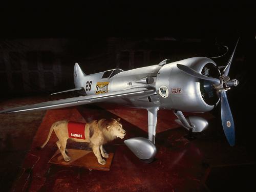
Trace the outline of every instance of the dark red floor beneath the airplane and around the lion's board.
{"type": "MultiPolygon", "coordinates": [[[[211,131],[198,135],[194,141],[184,139],[187,131],[181,127],[174,129],[177,125],[172,112],[160,111],[159,114],[156,160],[151,164],[139,160],[123,140],[116,139],[105,147],[115,155],[110,172],[103,172],[48,164],[57,150],[54,133],[44,149],[36,147],[46,140],[51,124],[61,119],[84,122],[119,116],[127,133],[125,139],[147,137],[146,111],[125,108],[106,111],[93,105],[47,111],[22,165],[24,171],[13,184],[13,191],[214,191],[209,186],[214,188],[218,174],[211,174],[212,167],[251,162],[247,154],[243,157],[247,160],[237,157],[243,148],[230,148],[222,136],[221,140],[212,138],[211,131]]],[[[204,117],[213,118],[210,114],[204,117]]],[[[84,149],[87,146],[69,142],[68,147],[84,149]]]]}

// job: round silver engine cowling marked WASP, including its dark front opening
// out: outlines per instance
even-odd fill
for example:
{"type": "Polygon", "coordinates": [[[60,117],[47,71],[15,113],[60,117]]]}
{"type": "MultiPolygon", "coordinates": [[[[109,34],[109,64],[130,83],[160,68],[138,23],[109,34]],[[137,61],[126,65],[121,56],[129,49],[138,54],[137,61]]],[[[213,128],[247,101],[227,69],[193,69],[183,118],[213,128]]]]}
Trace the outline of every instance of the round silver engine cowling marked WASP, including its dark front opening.
{"type": "Polygon", "coordinates": [[[216,63],[206,57],[188,58],[164,65],[156,80],[160,107],[186,112],[212,110],[220,98],[209,81],[187,75],[177,68],[177,64],[188,66],[206,76],[220,76],[216,63]]]}

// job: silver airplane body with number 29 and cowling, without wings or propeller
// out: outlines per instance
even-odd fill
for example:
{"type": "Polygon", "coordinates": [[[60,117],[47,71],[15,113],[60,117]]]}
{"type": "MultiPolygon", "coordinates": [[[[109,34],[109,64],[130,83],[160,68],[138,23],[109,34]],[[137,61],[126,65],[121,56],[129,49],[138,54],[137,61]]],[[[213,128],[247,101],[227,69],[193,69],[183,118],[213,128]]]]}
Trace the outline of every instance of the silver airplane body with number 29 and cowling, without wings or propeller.
{"type": "Polygon", "coordinates": [[[75,87],[83,87],[87,95],[111,93],[137,87],[145,89],[154,87],[156,92],[153,95],[117,99],[111,102],[138,108],[158,107],[187,112],[212,110],[219,98],[215,98],[213,102],[207,101],[203,94],[205,84],[202,86],[198,79],[180,71],[177,63],[191,67],[205,75],[210,75],[209,70],[216,73],[214,61],[206,57],[194,57],[163,66],[154,65],[128,71],[114,69],[91,75],[83,74],[83,76],[75,73],[75,87]],[[148,78],[151,82],[147,82],[148,78]]]}

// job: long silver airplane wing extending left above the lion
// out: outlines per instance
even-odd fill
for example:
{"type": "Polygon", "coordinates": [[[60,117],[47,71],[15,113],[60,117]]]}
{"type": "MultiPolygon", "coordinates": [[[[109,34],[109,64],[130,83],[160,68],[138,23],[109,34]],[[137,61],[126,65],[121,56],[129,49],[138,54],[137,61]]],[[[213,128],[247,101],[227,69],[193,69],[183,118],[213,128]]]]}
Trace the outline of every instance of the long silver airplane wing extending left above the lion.
{"type": "Polygon", "coordinates": [[[129,98],[133,96],[144,96],[144,95],[152,94],[154,92],[155,92],[155,89],[133,88],[129,90],[116,91],[112,93],[104,93],[99,95],[86,95],[86,96],[79,96],[79,97],[72,97],[67,99],[30,104],[25,106],[18,106],[16,108],[10,108],[10,109],[0,111],[0,113],[15,113],[15,112],[25,112],[25,111],[41,111],[41,110],[66,108],[68,106],[76,106],[81,104],[109,101],[112,99],[129,98]]]}

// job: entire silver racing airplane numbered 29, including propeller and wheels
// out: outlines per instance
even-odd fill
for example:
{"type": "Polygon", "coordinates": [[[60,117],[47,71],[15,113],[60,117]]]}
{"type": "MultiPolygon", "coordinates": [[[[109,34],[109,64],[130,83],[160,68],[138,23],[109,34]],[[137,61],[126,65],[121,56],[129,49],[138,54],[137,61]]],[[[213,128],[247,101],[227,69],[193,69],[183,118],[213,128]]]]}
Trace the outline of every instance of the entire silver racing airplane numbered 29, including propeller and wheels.
{"type": "Polygon", "coordinates": [[[185,118],[182,112],[208,112],[221,102],[223,130],[229,144],[233,146],[234,122],[226,91],[239,83],[228,77],[238,41],[225,67],[217,67],[207,57],[193,57],[176,62],[165,59],[158,65],[128,71],[113,69],[87,75],[75,63],[75,89],[58,93],[82,91],[84,96],[19,106],[0,113],[49,110],[95,102],[143,108],[148,111],[148,139],[136,137],[124,143],[138,158],[145,160],[152,159],[157,152],[154,143],[158,110],[173,110],[178,118],[177,123],[190,133],[201,132],[206,129],[207,121],[196,116],[185,118]],[[221,73],[220,69],[223,68],[221,73]]]}

